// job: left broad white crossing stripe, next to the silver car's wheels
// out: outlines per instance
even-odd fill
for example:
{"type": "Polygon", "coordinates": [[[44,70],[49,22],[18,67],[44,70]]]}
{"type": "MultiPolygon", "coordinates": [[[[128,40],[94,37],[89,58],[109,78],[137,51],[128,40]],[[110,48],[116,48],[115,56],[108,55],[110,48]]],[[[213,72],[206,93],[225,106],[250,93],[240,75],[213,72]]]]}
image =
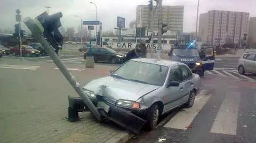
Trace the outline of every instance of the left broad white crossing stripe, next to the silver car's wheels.
{"type": "Polygon", "coordinates": [[[196,96],[193,107],[184,108],[183,111],[178,112],[164,127],[186,130],[210,97],[211,95],[206,95],[206,90],[202,90],[196,96]]]}

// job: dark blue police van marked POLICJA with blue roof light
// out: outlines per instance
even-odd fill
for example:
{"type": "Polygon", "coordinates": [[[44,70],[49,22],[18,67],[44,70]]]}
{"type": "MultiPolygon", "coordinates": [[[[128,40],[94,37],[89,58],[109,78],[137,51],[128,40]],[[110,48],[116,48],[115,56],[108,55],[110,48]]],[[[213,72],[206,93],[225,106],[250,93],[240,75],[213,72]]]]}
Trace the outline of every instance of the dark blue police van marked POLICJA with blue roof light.
{"type": "Polygon", "coordinates": [[[171,49],[170,60],[185,63],[193,73],[204,76],[204,71],[214,68],[214,48],[207,47],[200,49],[194,44],[176,44],[171,49]]]}

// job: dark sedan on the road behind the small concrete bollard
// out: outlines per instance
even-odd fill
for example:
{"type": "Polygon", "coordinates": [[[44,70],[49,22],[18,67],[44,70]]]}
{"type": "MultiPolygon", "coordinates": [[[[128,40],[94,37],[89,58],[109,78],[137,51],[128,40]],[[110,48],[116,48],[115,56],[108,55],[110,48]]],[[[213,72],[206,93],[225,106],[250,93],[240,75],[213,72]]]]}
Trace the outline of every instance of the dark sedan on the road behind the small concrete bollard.
{"type": "MultiPolygon", "coordinates": [[[[84,59],[90,54],[90,48],[84,53],[84,59]]],[[[122,53],[117,53],[113,49],[103,48],[103,47],[93,47],[92,55],[94,57],[94,62],[110,62],[113,64],[121,63],[124,60],[125,55],[122,53]]]]}

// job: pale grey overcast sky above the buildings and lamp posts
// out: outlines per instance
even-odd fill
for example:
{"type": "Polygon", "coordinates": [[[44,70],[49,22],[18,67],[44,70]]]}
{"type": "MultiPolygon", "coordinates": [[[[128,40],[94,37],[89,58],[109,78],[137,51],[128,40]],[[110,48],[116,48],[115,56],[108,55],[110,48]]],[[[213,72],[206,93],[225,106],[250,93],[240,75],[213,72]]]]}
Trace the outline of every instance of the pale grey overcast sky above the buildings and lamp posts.
{"type": "MultiPolygon", "coordinates": [[[[15,10],[20,9],[22,20],[30,16],[35,16],[47,11],[45,6],[51,6],[49,13],[62,12],[61,18],[63,27],[77,27],[80,19],[95,20],[96,10],[94,2],[98,7],[98,20],[102,22],[102,29],[109,30],[116,27],[117,16],[125,18],[126,27],[129,22],[135,19],[137,5],[147,5],[149,0],[0,0],[0,28],[14,29],[15,10]]],[[[163,0],[163,5],[184,5],[183,31],[195,31],[197,0],[163,0]]],[[[250,16],[256,16],[256,0],[200,0],[199,13],[209,10],[227,10],[250,12],[250,16]]],[[[22,29],[27,30],[22,23],[22,29]]]]}

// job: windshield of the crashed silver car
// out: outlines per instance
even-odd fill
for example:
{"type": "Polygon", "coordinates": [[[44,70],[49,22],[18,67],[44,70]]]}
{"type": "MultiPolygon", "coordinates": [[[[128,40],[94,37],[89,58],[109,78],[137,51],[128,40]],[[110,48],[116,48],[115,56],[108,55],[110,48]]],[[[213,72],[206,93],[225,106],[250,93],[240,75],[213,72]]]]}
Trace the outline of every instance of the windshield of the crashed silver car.
{"type": "Polygon", "coordinates": [[[163,86],[168,67],[145,62],[129,61],[110,76],[148,85],[163,86]]]}

